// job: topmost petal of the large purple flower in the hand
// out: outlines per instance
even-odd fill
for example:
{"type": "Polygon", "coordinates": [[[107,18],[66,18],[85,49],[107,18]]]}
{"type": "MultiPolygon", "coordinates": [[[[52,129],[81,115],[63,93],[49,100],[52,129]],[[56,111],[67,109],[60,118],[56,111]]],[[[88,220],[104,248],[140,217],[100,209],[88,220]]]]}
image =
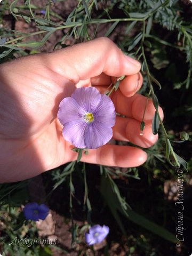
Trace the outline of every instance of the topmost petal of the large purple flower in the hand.
{"type": "Polygon", "coordinates": [[[78,105],[81,106],[87,112],[93,112],[97,108],[100,100],[101,94],[94,87],[83,87],[77,88],[71,95],[73,99],[78,102],[78,105]]]}

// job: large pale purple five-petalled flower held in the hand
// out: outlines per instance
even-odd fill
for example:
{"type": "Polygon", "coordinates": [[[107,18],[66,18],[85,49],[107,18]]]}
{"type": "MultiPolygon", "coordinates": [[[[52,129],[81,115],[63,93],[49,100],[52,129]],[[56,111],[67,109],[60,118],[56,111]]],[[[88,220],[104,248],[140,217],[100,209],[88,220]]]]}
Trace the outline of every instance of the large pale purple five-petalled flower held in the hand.
{"type": "Polygon", "coordinates": [[[116,113],[107,95],[94,87],[78,88],[59,107],[63,137],[75,147],[95,149],[111,139],[116,113]]]}

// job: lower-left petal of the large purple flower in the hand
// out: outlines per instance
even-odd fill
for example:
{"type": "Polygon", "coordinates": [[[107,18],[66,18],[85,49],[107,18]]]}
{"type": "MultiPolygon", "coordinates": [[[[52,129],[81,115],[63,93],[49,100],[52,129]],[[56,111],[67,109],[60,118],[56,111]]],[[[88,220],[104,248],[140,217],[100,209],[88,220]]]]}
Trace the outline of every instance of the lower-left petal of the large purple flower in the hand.
{"type": "Polygon", "coordinates": [[[84,142],[84,132],[87,123],[83,119],[74,120],[64,124],[62,135],[77,148],[86,148],[84,142]]]}

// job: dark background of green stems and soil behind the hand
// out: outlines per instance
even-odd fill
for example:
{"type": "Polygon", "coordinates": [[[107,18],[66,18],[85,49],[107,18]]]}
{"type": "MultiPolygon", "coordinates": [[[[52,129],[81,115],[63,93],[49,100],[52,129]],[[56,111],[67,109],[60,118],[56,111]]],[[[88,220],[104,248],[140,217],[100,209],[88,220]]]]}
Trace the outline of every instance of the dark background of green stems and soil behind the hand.
{"type": "Polygon", "coordinates": [[[70,163],[34,179],[0,185],[0,253],[190,255],[191,17],[192,3],[188,0],[1,2],[0,63],[109,37],[142,63],[144,79],[139,93],[152,97],[155,106],[161,105],[164,121],[158,129],[156,113],[153,131],[158,131],[159,140],[146,149],[148,160],[140,167],[70,163]],[[185,241],[177,247],[175,185],[179,166],[185,180],[185,241]],[[22,205],[34,201],[46,203],[51,209],[50,222],[45,223],[49,228],[41,227],[43,232],[36,223],[23,218],[22,205]],[[84,230],[93,223],[109,226],[110,234],[107,243],[90,249],[85,245],[84,230]],[[28,247],[12,243],[15,237],[57,238],[58,243],[28,247]]]}

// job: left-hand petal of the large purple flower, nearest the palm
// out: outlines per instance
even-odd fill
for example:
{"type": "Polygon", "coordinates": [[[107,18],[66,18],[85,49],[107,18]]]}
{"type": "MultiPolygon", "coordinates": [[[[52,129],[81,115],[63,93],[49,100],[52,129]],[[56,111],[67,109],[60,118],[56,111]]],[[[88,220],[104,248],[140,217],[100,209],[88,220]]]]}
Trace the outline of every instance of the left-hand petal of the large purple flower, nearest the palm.
{"type": "Polygon", "coordinates": [[[59,105],[58,119],[62,125],[70,121],[81,119],[85,111],[71,97],[64,98],[59,105]]]}

